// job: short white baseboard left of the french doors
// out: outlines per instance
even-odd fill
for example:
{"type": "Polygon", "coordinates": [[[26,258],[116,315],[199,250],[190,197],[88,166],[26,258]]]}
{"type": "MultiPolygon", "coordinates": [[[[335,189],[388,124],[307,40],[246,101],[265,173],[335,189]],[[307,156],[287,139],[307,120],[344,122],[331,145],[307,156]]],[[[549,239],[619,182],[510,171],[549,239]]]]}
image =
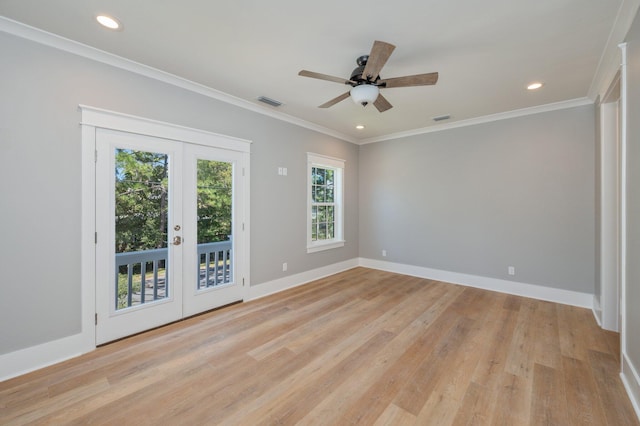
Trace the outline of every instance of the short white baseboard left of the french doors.
{"type": "Polygon", "coordinates": [[[79,333],[0,355],[0,382],[75,358],[95,348],[95,341],[90,336],[79,333]]]}

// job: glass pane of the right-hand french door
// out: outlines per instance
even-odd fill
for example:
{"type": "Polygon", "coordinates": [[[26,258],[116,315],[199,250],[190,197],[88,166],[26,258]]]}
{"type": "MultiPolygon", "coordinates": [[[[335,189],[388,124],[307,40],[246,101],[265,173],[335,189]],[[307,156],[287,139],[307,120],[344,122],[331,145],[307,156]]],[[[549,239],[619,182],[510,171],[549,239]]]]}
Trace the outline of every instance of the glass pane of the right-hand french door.
{"type": "Polygon", "coordinates": [[[198,160],[198,290],[233,282],[232,182],[231,163],[198,160]]]}

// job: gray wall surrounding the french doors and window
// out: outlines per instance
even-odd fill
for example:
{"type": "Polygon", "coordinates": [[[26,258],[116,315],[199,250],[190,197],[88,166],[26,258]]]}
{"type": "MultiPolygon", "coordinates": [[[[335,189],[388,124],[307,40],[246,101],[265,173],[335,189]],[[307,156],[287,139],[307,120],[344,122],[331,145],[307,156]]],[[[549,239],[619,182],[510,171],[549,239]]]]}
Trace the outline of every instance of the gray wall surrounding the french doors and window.
{"type": "Polygon", "coordinates": [[[78,104],[253,141],[253,285],[358,256],[356,145],[5,33],[0,52],[0,354],[80,331],[78,104]],[[307,151],[346,160],[343,248],[306,253],[307,151]]]}

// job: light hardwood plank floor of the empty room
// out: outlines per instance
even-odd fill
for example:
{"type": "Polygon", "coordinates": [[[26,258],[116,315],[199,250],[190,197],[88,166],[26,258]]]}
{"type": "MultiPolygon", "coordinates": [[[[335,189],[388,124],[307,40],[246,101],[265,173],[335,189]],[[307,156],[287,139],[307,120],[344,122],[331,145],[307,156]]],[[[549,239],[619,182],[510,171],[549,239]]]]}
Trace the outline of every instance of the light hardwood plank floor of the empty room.
{"type": "Polygon", "coordinates": [[[586,309],[365,268],[0,383],[0,424],[638,425],[586,309]]]}

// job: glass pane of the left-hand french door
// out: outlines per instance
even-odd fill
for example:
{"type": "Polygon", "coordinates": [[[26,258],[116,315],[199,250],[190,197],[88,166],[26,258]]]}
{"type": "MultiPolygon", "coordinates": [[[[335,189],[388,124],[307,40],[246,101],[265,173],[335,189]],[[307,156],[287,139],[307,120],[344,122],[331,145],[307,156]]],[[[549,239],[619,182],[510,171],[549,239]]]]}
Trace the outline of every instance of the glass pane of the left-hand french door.
{"type": "Polygon", "coordinates": [[[169,296],[169,156],[115,150],[116,310],[169,296]]]}

